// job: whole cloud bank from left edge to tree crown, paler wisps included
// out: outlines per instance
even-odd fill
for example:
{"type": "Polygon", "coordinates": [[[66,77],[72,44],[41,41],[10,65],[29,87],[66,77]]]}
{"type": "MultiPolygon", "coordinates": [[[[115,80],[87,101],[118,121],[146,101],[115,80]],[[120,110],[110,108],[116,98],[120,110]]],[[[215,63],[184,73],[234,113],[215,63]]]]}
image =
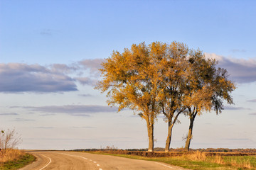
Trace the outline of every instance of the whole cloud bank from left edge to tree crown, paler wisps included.
{"type": "Polygon", "coordinates": [[[78,91],[76,82],[94,86],[100,79],[103,59],[82,60],[73,64],[0,63],[0,92],[52,93],[78,91]],[[76,77],[74,77],[76,75],[76,77]]]}

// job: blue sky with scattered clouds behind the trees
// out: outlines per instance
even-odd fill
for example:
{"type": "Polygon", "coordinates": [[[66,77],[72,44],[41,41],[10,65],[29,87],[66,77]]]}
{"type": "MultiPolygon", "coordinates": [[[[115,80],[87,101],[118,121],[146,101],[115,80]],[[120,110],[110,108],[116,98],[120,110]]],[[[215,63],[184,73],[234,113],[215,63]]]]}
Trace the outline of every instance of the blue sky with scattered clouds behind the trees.
{"type": "MultiPolygon", "coordinates": [[[[134,43],[183,42],[228,70],[235,104],[195,120],[191,148],[255,148],[256,1],[0,0],[0,128],[21,149],[146,148],[146,123],[95,90],[100,63],[134,43]]],[[[189,121],[174,126],[184,147],[189,121]]],[[[167,124],[159,115],[155,147],[167,124]]]]}

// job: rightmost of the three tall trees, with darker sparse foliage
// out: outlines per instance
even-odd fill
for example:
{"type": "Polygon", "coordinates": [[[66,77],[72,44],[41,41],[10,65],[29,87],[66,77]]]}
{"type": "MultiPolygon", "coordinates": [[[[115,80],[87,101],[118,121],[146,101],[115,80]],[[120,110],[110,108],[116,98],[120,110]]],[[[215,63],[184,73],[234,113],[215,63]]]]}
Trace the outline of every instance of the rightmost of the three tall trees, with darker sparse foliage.
{"type": "Polygon", "coordinates": [[[206,59],[200,50],[191,51],[188,62],[190,64],[190,77],[186,81],[186,115],[190,120],[188,136],[185,149],[189,150],[193,123],[196,115],[201,115],[204,111],[214,110],[218,115],[223,110],[223,101],[233,104],[230,95],[235,90],[235,85],[228,80],[226,69],[216,68],[215,60],[206,59]]]}

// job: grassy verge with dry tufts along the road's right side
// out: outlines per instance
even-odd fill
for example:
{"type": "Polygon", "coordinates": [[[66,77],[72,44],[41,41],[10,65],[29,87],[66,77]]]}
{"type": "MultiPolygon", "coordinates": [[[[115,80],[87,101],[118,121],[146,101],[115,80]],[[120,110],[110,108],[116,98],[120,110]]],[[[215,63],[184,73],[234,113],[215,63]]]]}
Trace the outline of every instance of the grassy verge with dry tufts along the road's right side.
{"type": "Polygon", "coordinates": [[[181,166],[186,169],[197,170],[242,170],[256,169],[256,156],[224,156],[224,155],[208,155],[206,152],[189,152],[182,153],[171,157],[142,157],[131,154],[114,154],[111,152],[90,152],[93,154],[110,154],[118,157],[127,157],[131,159],[142,159],[155,162],[164,162],[175,166],[181,166]]]}

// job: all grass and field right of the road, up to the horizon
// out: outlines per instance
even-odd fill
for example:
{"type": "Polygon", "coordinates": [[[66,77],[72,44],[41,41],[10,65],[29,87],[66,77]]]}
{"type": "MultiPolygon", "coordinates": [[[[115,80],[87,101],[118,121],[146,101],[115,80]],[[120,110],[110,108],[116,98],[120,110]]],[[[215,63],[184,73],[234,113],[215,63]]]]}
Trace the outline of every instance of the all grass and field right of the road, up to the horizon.
{"type": "MultiPolygon", "coordinates": [[[[213,169],[256,169],[256,152],[201,152],[193,150],[190,152],[145,152],[122,149],[85,149],[84,152],[92,154],[107,154],[117,157],[131,159],[142,159],[147,161],[164,162],[185,169],[213,170],[213,169]]],[[[226,149],[225,149],[226,150],[226,149]]]]}

